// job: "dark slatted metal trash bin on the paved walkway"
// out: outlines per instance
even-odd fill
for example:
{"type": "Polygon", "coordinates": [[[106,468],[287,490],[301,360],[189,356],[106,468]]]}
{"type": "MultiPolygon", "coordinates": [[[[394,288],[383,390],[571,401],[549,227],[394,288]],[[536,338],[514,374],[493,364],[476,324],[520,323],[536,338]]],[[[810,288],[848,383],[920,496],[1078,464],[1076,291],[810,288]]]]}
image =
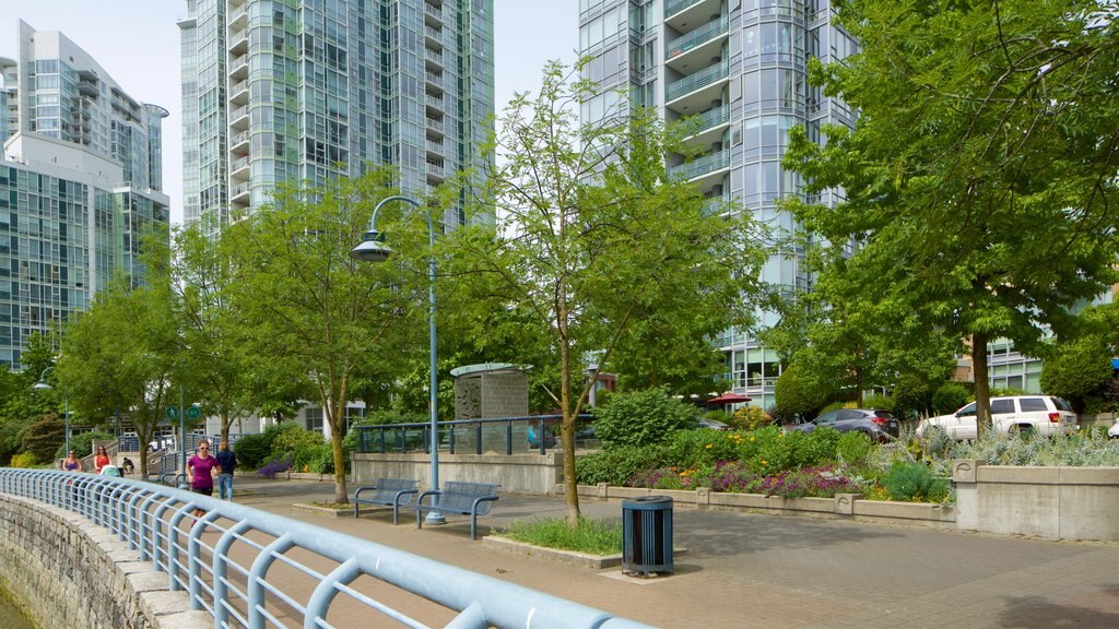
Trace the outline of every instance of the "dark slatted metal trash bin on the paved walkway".
{"type": "Polygon", "coordinates": [[[622,500],[622,572],[673,572],[673,499],[622,500]]]}

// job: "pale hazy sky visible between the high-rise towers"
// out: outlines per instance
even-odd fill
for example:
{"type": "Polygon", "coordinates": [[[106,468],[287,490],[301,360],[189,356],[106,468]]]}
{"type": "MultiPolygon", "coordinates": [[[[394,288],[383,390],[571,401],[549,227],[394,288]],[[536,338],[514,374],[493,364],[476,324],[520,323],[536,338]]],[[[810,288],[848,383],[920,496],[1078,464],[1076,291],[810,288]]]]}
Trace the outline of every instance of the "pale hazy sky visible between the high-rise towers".
{"type": "MultiPolygon", "coordinates": [[[[88,53],[133,98],[170,112],[163,120],[163,193],[182,219],[179,28],[186,0],[2,0],[0,57],[16,58],[19,20],[57,30],[88,53]]],[[[495,104],[535,91],[551,59],[579,46],[577,0],[493,0],[495,104]],[[543,28],[542,28],[543,27],[543,28]]]]}

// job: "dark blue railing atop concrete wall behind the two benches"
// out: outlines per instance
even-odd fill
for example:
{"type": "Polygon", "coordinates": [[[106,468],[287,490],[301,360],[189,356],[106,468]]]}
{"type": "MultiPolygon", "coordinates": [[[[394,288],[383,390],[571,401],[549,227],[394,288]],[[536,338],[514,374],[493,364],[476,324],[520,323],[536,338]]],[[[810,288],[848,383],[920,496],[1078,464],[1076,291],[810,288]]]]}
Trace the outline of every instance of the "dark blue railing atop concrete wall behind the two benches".
{"type": "MultiPolygon", "coordinates": [[[[577,415],[577,420],[591,420],[593,415],[577,415]]],[[[560,447],[560,439],[554,426],[558,426],[563,415],[525,415],[517,417],[491,417],[481,420],[455,420],[439,422],[440,448],[446,448],[451,454],[455,450],[466,449],[474,454],[481,454],[483,443],[501,443],[506,454],[524,452],[526,447],[538,450],[540,454],[560,447]],[[517,430],[515,430],[517,429],[517,430]]],[[[431,448],[431,424],[416,422],[407,424],[360,425],[350,430],[357,431],[358,452],[427,452],[431,448]]]]}

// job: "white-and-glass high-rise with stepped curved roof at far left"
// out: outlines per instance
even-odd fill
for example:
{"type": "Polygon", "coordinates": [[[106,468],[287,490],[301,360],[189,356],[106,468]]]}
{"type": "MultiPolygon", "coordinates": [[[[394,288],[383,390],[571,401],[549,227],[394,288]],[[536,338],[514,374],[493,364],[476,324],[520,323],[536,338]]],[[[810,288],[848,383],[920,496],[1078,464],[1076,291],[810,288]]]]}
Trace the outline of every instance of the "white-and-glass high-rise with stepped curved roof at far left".
{"type": "Polygon", "coordinates": [[[141,237],[169,235],[167,111],[137,101],[59,32],[20,21],[0,58],[0,363],[84,310],[117,272],[144,281],[141,237]]]}

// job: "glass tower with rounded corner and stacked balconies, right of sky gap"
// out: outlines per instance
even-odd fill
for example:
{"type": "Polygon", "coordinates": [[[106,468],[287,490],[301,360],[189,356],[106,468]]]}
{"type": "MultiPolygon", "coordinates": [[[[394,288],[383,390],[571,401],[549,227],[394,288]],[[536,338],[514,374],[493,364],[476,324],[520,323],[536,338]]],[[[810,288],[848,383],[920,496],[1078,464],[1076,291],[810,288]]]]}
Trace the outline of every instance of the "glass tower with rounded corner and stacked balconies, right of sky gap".
{"type": "MultiPolygon", "coordinates": [[[[667,122],[698,116],[688,142],[702,157],[669,156],[669,170],[715,199],[731,199],[786,233],[798,225],[775,200],[802,195],[799,178],[781,169],[788,131],[806,125],[820,138],[826,123],[853,124],[853,112],[807,82],[811,57],[841,59],[857,44],[831,24],[830,0],[580,0],[589,78],[601,86],[583,103],[584,122],[630,104],[656,107],[667,122]]],[[[820,203],[835,203],[836,193],[820,203]]],[[[773,255],[762,280],[807,290],[802,252],[773,255]]],[[[761,323],[775,323],[759,312],[761,323]]],[[[726,378],[754,404],[773,402],[779,358],[755,338],[727,330],[717,340],[726,378]]]]}

